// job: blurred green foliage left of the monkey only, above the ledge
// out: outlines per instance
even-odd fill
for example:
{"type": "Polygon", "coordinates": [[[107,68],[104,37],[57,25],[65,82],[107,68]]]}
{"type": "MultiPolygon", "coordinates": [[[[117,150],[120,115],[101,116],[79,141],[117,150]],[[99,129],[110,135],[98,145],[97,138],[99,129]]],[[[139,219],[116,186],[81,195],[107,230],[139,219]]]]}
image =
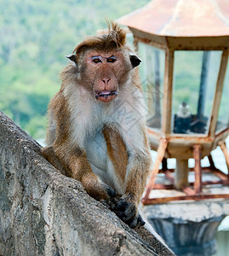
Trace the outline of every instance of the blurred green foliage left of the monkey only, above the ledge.
{"type": "Polygon", "coordinates": [[[0,0],[0,109],[32,137],[45,135],[59,73],[86,35],[149,0],[0,0]]]}

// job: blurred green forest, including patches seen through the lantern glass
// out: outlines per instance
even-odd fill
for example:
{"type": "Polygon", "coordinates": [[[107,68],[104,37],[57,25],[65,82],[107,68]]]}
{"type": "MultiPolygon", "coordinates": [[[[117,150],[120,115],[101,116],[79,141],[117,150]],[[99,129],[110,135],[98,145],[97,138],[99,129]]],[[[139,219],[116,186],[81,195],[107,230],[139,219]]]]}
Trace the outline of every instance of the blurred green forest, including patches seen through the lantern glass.
{"type": "MultiPolygon", "coordinates": [[[[44,138],[47,107],[60,89],[59,73],[68,63],[65,56],[87,35],[106,28],[106,19],[116,20],[148,2],[150,0],[0,0],[0,110],[35,139],[44,138]]],[[[140,53],[143,60],[140,74],[142,81],[149,76],[154,84],[155,63],[150,48],[144,46],[140,53]]],[[[209,89],[204,103],[204,115],[208,118],[220,55],[221,52],[216,51],[210,57],[209,89]]],[[[172,114],[177,113],[181,102],[190,105],[192,114],[197,113],[202,57],[203,51],[175,53],[172,114]]],[[[164,61],[160,62],[162,105],[164,61]]],[[[224,126],[228,125],[229,117],[228,80],[229,67],[219,114],[224,126]]]]}

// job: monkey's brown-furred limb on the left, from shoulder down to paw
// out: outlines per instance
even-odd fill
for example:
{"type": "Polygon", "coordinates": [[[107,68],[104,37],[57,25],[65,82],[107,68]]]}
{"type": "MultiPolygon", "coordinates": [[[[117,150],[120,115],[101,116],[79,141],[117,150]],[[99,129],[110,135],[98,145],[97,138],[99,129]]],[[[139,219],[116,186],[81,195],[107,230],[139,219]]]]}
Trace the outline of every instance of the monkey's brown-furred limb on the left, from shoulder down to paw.
{"type": "Polygon", "coordinates": [[[116,192],[92,172],[85,151],[77,143],[72,144],[68,104],[61,90],[50,102],[46,140],[49,146],[42,148],[42,154],[62,174],[80,181],[89,195],[110,200],[116,192]]]}

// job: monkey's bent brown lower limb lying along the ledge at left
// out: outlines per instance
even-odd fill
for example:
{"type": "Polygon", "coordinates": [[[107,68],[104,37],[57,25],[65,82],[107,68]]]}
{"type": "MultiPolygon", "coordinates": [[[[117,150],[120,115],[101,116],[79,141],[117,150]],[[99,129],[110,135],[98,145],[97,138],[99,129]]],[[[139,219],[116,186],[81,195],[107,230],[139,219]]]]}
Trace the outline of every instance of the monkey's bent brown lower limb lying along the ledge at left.
{"type": "Polygon", "coordinates": [[[77,179],[83,184],[87,193],[96,200],[110,200],[116,195],[114,189],[102,183],[92,172],[86,154],[80,149],[69,151],[62,143],[61,147],[50,146],[42,148],[43,156],[62,174],[77,179]]]}

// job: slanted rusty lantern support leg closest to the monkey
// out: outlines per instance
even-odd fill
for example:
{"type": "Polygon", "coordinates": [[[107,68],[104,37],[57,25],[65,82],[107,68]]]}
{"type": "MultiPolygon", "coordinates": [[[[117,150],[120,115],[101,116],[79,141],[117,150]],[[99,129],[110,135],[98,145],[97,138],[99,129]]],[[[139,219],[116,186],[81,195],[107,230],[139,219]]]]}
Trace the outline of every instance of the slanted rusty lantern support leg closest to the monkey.
{"type": "Polygon", "coordinates": [[[147,183],[147,185],[146,185],[146,195],[144,196],[142,201],[144,201],[145,199],[148,199],[148,197],[151,193],[151,190],[154,187],[157,173],[159,172],[159,166],[163,160],[164,152],[167,148],[167,145],[168,145],[167,139],[161,139],[159,146],[157,148],[157,158],[156,158],[154,166],[152,168],[151,177],[150,177],[149,183],[147,183]]]}

